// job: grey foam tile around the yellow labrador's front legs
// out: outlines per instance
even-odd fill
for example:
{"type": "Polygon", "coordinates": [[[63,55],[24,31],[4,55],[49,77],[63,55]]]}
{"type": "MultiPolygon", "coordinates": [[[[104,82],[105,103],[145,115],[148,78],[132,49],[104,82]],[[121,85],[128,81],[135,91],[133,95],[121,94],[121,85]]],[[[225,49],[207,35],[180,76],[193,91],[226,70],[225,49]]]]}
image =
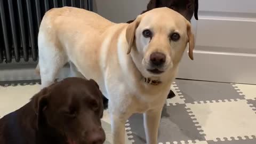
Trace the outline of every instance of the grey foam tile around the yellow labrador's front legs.
{"type": "MultiPolygon", "coordinates": [[[[205,140],[204,134],[199,133],[198,126],[195,126],[185,107],[185,104],[164,107],[158,132],[159,142],[165,143],[170,139],[172,141],[205,140]]],[[[133,132],[133,140],[139,144],[146,143],[142,114],[133,115],[129,123],[133,132]]]]}

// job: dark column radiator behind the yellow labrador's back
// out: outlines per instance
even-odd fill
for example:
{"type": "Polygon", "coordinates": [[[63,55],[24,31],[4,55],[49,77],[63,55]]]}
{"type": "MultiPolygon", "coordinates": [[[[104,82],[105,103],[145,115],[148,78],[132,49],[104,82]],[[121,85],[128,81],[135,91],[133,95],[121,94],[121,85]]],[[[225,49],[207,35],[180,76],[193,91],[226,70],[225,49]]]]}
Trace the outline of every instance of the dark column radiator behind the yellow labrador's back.
{"type": "Polygon", "coordinates": [[[46,11],[73,6],[92,11],[93,0],[0,0],[0,63],[37,61],[37,35],[46,11]]]}

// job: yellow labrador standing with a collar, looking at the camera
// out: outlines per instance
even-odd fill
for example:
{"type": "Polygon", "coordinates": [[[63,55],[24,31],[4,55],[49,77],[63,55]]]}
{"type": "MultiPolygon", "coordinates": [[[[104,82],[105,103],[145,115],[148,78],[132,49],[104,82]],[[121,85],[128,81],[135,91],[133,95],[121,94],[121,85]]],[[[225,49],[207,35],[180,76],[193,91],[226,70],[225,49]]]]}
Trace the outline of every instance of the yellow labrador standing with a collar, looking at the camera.
{"type": "Polygon", "coordinates": [[[147,143],[156,144],[162,108],[187,43],[193,59],[190,23],[166,7],[143,13],[130,24],[62,7],[42,20],[37,70],[45,87],[65,63],[74,63],[109,99],[114,144],[124,143],[125,122],[134,113],[144,114],[147,143]]]}

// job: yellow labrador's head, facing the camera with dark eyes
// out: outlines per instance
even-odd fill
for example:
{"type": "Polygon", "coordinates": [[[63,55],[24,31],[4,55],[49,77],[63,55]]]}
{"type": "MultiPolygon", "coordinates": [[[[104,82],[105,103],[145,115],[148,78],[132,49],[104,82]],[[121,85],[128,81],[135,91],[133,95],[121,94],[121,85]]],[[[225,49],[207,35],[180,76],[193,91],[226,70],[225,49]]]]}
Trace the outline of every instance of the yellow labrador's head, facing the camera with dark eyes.
{"type": "Polygon", "coordinates": [[[194,35],[190,22],[167,7],[137,17],[126,29],[126,40],[135,65],[144,77],[159,77],[176,68],[189,43],[193,59],[194,35]]]}

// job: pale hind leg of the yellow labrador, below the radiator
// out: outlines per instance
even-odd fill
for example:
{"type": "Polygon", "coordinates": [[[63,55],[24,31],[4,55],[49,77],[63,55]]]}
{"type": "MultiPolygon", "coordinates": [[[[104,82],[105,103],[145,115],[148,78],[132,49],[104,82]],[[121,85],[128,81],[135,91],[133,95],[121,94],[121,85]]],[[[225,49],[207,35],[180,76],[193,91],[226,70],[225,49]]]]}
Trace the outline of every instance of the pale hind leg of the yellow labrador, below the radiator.
{"type": "Polygon", "coordinates": [[[41,88],[54,83],[60,69],[68,62],[65,52],[54,44],[39,45],[39,69],[41,75],[41,88]]]}

